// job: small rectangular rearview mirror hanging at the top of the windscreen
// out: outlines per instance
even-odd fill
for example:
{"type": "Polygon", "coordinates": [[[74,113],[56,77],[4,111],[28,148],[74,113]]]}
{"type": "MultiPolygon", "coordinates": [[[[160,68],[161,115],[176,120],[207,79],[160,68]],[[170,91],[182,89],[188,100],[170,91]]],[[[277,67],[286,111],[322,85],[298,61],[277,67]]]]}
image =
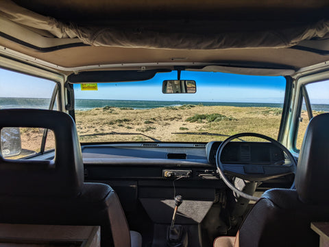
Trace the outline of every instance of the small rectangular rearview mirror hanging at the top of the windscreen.
{"type": "Polygon", "coordinates": [[[197,86],[194,80],[164,80],[162,93],[195,93],[197,86]]]}

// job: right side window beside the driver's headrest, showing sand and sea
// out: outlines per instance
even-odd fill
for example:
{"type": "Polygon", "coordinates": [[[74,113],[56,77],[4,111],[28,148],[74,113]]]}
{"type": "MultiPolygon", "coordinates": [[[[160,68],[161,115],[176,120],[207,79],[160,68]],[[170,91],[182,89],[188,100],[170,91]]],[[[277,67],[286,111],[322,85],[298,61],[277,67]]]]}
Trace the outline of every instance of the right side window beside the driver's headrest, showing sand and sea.
{"type": "Polygon", "coordinates": [[[295,147],[300,150],[308,122],[312,117],[329,112],[329,80],[306,84],[295,147]]]}

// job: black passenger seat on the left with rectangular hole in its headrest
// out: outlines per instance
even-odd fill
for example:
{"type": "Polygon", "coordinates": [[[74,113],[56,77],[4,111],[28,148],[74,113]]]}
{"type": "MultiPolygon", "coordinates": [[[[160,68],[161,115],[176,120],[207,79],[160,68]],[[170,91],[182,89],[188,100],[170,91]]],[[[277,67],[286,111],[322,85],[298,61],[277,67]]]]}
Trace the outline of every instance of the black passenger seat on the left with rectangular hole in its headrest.
{"type": "MultiPolygon", "coordinates": [[[[108,185],[84,183],[73,119],[51,110],[0,110],[0,126],[53,130],[54,161],[0,157],[0,222],[101,226],[101,246],[130,247],[119,199],[108,185]]],[[[140,239],[138,239],[140,240],[140,239]]]]}

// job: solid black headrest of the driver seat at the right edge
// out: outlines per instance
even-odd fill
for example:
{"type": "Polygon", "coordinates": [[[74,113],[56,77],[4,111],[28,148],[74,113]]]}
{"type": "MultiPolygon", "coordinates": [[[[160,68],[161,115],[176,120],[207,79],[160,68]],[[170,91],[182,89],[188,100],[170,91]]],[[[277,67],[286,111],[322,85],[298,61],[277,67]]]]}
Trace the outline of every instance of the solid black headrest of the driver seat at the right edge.
{"type": "Polygon", "coordinates": [[[295,184],[302,202],[329,203],[329,113],[310,120],[298,158],[295,184]]]}

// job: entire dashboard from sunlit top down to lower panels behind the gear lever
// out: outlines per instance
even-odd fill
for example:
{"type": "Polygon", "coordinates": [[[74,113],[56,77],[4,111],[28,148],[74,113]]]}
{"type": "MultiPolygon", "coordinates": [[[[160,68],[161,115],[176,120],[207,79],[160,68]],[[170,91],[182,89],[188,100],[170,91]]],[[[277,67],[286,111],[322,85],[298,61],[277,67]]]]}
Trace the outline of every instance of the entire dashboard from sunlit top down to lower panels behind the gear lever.
{"type": "MultiPolygon", "coordinates": [[[[110,185],[128,218],[144,214],[143,219],[149,217],[156,224],[170,224],[173,195],[180,194],[184,203],[178,224],[200,223],[213,204],[226,204],[230,192],[217,173],[215,156],[220,143],[82,144],[85,181],[110,185]]],[[[54,153],[44,155],[51,159],[54,153]]],[[[280,149],[261,142],[229,143],[222,160],[251,167],[287,162],[280,149]]],[[[266,183],[265,189],[291,185],[284,177],[266,183]]]]}

